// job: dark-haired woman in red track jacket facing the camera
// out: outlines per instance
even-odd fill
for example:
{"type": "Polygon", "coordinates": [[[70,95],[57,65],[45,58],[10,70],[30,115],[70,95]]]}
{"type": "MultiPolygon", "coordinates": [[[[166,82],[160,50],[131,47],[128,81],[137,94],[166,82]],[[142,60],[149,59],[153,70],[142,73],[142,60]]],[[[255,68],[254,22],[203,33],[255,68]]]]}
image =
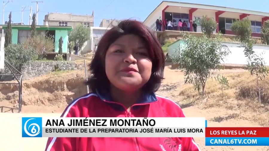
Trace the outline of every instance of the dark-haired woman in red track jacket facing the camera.
{"type": "MultiPolygon", "coordinates": [[[[156,95],[165,55],[154,33],[124,20],[100,39],[90,64],[92,93],[62,117],[185,117],[174,101],[156,95]]],[[[193,138],[48,138],[46,151],[199,151],[193,138]]]]}

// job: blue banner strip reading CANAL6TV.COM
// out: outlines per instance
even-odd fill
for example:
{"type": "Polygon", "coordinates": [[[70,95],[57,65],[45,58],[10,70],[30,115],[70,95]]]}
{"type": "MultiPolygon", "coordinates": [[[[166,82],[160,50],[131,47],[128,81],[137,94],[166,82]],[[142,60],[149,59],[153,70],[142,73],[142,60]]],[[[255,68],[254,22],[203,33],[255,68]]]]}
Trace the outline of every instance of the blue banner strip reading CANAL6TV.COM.
{"type": "Polygon", "coordinates": [[[269,137],[206,137],[205,146],[269,146],[269,137]]]}

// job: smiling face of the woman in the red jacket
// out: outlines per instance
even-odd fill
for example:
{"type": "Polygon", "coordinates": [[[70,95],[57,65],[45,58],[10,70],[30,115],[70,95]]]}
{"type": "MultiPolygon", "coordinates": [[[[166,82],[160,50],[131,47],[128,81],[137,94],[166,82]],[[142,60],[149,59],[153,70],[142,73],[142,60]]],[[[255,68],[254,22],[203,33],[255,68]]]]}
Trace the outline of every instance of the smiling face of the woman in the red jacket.
{"type": "Polygon", "coordinates": [[[136,91],[149,81],[152,61],[139,36],[125,35],[110,45],[105,59],[106,76],[124,91],[136,91]]]}

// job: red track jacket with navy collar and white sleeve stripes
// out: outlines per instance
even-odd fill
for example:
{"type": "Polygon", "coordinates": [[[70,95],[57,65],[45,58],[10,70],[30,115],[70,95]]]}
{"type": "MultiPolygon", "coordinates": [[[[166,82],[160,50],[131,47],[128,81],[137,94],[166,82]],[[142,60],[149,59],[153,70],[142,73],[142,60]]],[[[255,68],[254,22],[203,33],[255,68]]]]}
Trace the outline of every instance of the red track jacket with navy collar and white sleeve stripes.
{"type": "MultiPolygon", "coordinates": [[[[84,95],[61,117],[185,117],[174,101],[155,93],[144,95],[129,111],[108,96],[84,95]]],[[[46,151],[200,151],[193,138],[48,138],[46,151]]]]}

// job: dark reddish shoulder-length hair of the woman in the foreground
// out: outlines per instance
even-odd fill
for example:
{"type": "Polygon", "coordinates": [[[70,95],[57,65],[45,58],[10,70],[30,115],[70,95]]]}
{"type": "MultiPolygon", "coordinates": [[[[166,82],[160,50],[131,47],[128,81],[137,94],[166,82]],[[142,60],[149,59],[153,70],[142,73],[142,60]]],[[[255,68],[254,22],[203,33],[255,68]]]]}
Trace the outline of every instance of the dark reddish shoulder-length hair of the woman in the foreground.
{"type": "Polygon", "coordinates": [[[108,30],[100,39],[94,58],[90,63],[91,76],[87,85],[92,92],[96,90],[109,89],[110,81],[106,76],[105,57],[109,46],[118,38],[124,35],[137,35],[145,41],[149,57],[152,60],[152,73],[149,81],[144,85],[146,92],[156,92],[161,86],[166,56],[163,53],[161,44],[154,33],[143,23],[135,20],[123,20],[116,26],[108,30]]]}

